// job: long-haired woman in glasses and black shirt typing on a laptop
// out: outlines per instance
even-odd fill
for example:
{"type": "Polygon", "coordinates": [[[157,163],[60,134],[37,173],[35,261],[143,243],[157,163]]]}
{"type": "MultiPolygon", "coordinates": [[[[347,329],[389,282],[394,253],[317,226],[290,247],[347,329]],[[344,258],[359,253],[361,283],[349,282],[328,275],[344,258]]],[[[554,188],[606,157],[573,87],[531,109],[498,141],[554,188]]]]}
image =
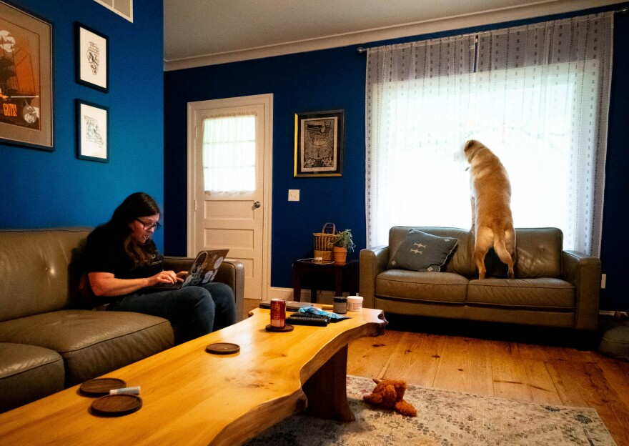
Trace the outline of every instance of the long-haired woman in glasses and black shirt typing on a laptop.
{"type": "Polygon", "coordinates": [[[159,283],[183,282],[187,274],[163,269],[163,257],[152,239],[161,227],[160,214],[152,197],[137,192],[124,199],[109,222],[89,234],[85,254],[92,292],[107,298],[108,310],[169,319],[177,343],[234,324],[234,294],[227,284],[143,292],[159,283]]]}

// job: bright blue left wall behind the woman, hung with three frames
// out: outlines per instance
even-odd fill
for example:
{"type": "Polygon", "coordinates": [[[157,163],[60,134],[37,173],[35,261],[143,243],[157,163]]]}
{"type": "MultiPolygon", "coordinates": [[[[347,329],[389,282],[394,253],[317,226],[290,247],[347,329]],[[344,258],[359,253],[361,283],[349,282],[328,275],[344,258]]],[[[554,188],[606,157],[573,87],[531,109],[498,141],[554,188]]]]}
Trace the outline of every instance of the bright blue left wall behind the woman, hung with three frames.
{"type": "Polygon", "coordinates": [[[139,190],[162,204],[161,2],[134,1],[133,23],[92,0],[11,3],[53,26],[54,152],[0,144],[0,227],[95,226],[139,190]],[[109,37],[109,93],[75,82],[74,21],[109,37]],[[75,99],[109,107],[109,163],[76,158],[75,99]]]}

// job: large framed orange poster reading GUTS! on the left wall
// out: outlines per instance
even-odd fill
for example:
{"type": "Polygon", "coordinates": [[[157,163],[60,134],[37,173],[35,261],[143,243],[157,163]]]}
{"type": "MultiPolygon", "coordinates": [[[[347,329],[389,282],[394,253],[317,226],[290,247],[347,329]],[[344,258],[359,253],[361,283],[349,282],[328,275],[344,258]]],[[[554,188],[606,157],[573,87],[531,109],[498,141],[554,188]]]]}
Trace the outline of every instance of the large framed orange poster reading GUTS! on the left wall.
{"type": "Polygon", "coordinates": [[[0,1],[0,141],[54,150],[52,25],[0,1]]]}

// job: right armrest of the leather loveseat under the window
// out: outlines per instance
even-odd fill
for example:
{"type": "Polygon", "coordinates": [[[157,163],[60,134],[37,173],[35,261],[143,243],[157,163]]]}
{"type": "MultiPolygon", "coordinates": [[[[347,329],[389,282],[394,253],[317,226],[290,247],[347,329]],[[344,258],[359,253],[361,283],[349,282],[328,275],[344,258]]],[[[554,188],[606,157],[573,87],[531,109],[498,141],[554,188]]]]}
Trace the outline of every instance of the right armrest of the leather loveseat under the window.
{"type": "Polygon", "coordinates": [[[562,279],[575,287],[575,329],[598,327],[600,259],[582,252],[562,252],[562,279]]]}

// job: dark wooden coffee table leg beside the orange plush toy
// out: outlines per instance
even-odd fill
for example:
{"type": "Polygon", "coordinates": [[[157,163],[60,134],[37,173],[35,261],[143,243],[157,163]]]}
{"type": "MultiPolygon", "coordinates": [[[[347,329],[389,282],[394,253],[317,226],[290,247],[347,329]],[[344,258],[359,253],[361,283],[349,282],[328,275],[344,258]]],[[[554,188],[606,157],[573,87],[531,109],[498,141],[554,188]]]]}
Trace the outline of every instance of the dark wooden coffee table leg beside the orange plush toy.
{"type": "Polygon", "coordinates": [[[302,389],[308,399],[307,415],[354,421],[354,413],[347,402],[347,345],[322,365],[302,389]]]}

